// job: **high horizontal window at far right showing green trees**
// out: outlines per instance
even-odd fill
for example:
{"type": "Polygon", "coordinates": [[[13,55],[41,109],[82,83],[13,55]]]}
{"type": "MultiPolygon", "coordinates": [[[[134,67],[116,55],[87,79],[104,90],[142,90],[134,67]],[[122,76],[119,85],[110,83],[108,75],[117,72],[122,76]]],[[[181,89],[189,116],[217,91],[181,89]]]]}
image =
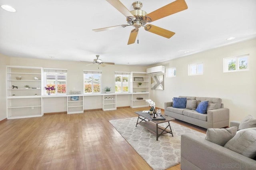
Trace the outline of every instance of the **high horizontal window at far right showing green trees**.
{"type": "Polygon", "coordinates": [[[246,71],[249,70],[249,54],[236,57],[224,58],[223,71],[246,71]]]}

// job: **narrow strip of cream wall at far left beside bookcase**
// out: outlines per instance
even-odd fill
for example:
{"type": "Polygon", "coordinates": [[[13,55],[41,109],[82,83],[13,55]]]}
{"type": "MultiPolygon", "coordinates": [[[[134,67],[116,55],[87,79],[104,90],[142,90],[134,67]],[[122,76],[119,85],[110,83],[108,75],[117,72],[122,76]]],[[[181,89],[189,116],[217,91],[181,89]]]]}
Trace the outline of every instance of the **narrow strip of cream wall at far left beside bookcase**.
{"type": "Polygon", "coordinates": [[[0,121],[6,118],[6,65],[10,57],[0,54],[0,121]]]}

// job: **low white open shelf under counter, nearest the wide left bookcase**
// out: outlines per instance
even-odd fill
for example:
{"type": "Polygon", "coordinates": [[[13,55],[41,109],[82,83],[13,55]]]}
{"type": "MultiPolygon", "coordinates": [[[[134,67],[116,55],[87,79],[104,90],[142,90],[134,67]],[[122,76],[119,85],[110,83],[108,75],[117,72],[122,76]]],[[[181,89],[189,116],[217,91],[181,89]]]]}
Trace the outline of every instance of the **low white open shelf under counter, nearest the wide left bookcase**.
{"type": "Polygon", "coordinates": [[[83,96],[68,96],[67,97],[67,113],[84,113],[84,97],[83,96]]]}

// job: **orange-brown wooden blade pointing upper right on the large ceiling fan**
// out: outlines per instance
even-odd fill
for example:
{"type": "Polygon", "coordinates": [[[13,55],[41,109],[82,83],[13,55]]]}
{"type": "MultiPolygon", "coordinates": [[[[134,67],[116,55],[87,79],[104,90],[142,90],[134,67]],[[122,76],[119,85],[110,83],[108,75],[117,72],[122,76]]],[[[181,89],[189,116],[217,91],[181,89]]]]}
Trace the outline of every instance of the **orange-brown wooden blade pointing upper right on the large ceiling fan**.
{"type": "Polygon", "coordinates": [[[188,9],[188,6],[185,0],[176,0],[166,6],[163,6],[162,8],[150,12],[147,14],[147,16],[149,16],[152,21],[155,21],[186,9],[188,9]]]}

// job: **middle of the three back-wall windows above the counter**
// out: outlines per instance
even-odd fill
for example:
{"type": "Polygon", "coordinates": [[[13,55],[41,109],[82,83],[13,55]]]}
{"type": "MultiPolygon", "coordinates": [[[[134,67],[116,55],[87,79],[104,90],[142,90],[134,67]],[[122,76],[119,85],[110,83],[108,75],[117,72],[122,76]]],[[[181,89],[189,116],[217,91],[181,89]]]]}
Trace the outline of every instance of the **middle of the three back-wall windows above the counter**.
{"type": "Polygon", "coordinates": [[[101,76],[102,71],[84,70],[84,93],[100,93],[101,76]]]}

